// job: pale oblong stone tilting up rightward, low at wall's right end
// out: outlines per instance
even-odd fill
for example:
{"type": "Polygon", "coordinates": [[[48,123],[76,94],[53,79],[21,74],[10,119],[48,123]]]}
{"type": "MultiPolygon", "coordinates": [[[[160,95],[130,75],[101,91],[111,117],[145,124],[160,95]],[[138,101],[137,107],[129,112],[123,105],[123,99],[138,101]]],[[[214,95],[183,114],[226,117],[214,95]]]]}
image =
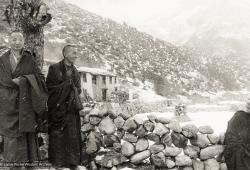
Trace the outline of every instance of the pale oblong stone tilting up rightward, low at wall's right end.
{"type": "Polygon", "coordinates": [[[213,145],[204,148],[200,152],[200,159],[206,160],[215,158],[216,156],[220,155],[224,151],[224,146],[222,145],[213,145]]]}

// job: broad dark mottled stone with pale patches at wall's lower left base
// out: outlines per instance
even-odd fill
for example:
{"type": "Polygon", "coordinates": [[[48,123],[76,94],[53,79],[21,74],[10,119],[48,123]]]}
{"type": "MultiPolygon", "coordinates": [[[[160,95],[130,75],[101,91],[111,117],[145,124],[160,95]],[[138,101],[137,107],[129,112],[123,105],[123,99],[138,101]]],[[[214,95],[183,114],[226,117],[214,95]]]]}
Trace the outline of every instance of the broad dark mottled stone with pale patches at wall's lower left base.
{"type": "Polygon", "coordinates": [[[96,164],[106,168],[112,168],[113,166],[120,165],[126,161],[126,157],[121,153],[114,151],[98,152],[95,157],[96,164]]]}

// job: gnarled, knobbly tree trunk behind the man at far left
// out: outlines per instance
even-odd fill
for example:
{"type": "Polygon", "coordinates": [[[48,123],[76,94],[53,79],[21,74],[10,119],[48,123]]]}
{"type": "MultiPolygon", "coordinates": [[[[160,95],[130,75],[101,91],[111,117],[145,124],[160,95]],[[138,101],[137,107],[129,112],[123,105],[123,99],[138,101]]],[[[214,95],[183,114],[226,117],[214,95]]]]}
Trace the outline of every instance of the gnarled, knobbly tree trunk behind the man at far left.
{"type": "Polygon", "coordinates": [[[47,6],[41,0],[9,0],[5,17],[11,31],[20,31],[25,38],[25,49],[35,55],[40,69],[44,60],[43,27],[51,21],[47,6]],[[45,7],[45,13],[40,7],[45,7]]]}

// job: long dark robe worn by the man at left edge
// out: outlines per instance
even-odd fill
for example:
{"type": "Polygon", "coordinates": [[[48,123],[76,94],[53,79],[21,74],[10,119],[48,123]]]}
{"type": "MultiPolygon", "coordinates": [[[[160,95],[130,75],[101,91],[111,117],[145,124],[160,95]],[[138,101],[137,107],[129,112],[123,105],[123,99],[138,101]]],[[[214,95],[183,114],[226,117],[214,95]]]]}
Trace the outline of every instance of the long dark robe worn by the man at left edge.
{"type": "Polygon", "coordinates": [[[31,85],[28,82],[36,84],[35,88],[46,93],[44,77],[30,52],[21,52],[21,59],[16,67],[11,64],[10,51],[4,53],[0,57],[0,134],[4,137],[5,162],[39,160],[36,135],[36,118],[39,116],[33,106],[43,105],[42,110],[45,110],[46,95],[43,96],[43,101],[36,100],[32,103],[31,85]],[[30,81],[25,76],[30,77],[30,81]],[[17,77],[23,80],[25,87],[19,87],[12,81],[17,77]],[[20,94],[25,94],[26,98],[20,94]]]}

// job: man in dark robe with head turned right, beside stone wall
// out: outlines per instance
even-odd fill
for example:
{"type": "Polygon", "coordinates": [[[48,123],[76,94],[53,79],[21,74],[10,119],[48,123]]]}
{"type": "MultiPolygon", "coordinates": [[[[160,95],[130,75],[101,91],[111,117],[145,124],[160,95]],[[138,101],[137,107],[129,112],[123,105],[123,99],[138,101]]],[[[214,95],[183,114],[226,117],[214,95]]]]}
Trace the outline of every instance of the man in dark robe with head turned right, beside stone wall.
{"type": "Polygon", "coordinates": [[[79,111],[80,75],[74,66],[77,48],[63,48],[64,59],[51,65],[46,84],[49,91],[49,160],[56,168],[77,169],[81,161],[81,124],[79,111]]]}

